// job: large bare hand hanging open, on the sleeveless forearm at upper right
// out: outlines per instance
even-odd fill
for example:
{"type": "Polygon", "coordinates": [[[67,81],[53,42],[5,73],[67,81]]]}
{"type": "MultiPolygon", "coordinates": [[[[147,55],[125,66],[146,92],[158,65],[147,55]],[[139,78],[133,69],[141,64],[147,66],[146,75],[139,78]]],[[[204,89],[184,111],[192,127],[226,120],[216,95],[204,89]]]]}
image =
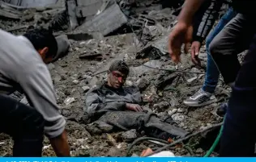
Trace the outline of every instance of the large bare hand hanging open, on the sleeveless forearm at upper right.
{"type": "Polygon", "coordinates": [[[185,44],[184,52],[188,52],[190,40],[192,39],[193,27],[187,23],[177,23],[169,35],[169,54],[175,63],[181,58],[181,45],[185,44]]]}

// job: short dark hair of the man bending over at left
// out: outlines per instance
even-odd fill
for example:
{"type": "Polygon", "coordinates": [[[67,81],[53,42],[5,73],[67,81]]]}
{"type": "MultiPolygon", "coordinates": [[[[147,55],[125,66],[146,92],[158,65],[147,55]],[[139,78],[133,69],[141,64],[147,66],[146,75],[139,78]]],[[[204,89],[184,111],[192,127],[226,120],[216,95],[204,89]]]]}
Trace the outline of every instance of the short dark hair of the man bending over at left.
{"type": "Polygon", "coordinates": [[[27,39],[33,44],[34,48],[36,50],[42,49],[42,48],[49,48],[49,51],[46,54],[46,57],[49,56],[56,56],[58,52],[58,44],[53,36],[53,32],[49,31],[44,28],[40,29],[32,29],[28,31],[26,34],[24,34],[27,39]]]}

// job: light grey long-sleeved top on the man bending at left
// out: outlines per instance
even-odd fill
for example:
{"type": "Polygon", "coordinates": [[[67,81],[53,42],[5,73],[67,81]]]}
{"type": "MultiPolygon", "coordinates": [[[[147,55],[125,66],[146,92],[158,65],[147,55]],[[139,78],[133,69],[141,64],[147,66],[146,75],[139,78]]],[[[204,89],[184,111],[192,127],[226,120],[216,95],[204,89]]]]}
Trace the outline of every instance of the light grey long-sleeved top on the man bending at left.
{"type": "Polygon", "coordinates": [[[61,135],[66,121],[58,112],[53,82],[41,56],[23,36],[0,30],[0,38],[0,93],[25,93],[29,105],[45,118],[45,134],[61,135]]]}

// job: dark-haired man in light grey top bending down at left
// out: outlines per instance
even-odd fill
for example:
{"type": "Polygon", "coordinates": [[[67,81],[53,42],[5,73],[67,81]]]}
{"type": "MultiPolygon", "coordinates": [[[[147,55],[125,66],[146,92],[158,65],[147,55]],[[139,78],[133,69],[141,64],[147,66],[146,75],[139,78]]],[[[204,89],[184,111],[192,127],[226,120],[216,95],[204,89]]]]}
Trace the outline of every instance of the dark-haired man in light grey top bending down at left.
{"type": "Polygon", "coordinates": [[[46,64],[56,55],[53,34],[44,29],[15,36],[0,30],[0,132],[14,139],[13,156],[41,156],[44,133],[57,156],[70,156],[65,119],[58,112],[46,64]],[[30,106],[9,97],[25,93],[30,106]]]}

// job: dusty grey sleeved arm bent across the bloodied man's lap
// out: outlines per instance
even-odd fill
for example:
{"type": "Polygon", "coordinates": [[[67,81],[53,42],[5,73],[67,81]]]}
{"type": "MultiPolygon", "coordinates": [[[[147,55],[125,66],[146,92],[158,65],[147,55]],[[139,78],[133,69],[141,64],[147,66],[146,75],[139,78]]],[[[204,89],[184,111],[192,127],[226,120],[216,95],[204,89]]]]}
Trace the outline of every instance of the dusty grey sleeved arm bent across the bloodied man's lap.
{"type": "Polygon", "coordinates": [[[125,110],[126,102],[105,102],[104,98],[101,98],[97,90],[93,90],[87,93],[85,111],[88,114],[94,114],[98,111],[107,110],[125,110]]]}

